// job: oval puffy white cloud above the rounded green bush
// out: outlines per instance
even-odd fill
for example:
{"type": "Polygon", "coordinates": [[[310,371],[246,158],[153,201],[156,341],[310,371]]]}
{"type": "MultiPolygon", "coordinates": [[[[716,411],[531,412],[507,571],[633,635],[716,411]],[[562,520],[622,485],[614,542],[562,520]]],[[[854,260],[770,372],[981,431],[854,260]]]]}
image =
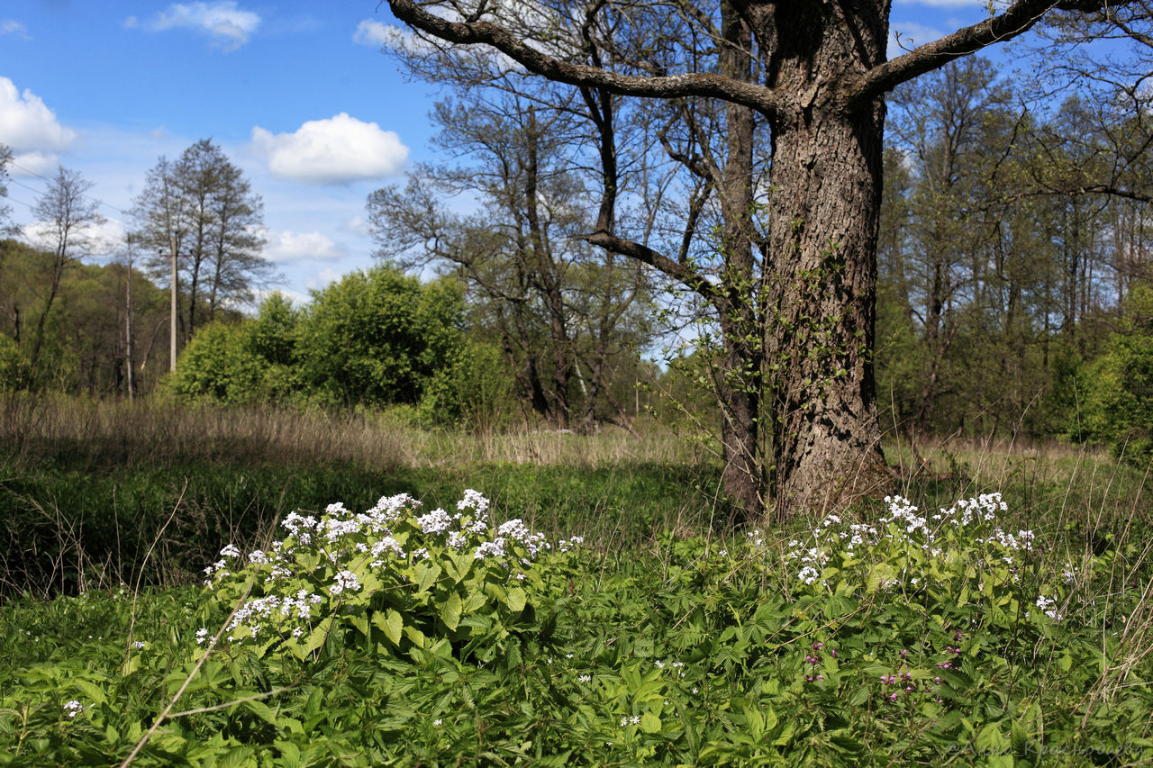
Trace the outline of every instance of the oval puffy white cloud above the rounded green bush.
{"type": "Polygon", "coordinates": [[[408,159],[408,148],[395,133],[345,112],[309,120],[292,134],[272,134],[257,126],[253,148],[270,173],[310,185],[393,176],[408,159]]]}

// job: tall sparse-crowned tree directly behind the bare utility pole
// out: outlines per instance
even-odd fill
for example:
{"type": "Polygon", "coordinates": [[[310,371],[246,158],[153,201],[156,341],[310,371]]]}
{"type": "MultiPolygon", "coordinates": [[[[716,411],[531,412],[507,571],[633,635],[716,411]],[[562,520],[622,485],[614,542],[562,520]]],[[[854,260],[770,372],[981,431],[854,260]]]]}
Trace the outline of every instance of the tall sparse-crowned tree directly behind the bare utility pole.
{"type": "Polygon", "coordinates": [[[225,307],[251,301],[254,288],[271,276],[272,265],[261,256],[261,197],[211,140],[196,142],[175,163],[161,157],[133,217],[137,242],[155,254],[146,266],[156,279],[171,279],[175,248],[186,340],[225,307]]]}

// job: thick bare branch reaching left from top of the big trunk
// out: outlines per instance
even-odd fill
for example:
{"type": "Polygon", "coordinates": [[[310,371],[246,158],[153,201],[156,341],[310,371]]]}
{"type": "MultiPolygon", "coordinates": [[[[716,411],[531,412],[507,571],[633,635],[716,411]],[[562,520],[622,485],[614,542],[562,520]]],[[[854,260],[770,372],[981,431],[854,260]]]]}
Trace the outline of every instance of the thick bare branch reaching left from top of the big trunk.
{"type": "Polygon", "coordinates": [[[421,8],[415,0],[389,0],[389,7],[397,18],[422,32],[459,45],[490,45],[529,71],[570,85],[603,88],[621,96],[650,98],[707,96],[741,104],[767,115],[776,114],[781,106],[781,99],[773,89],[763,85],[741,83],[709,73],[663,77],[623,75],[589,65],[560,61],[489,22],[452,22],[440,18],[421,8]]]}

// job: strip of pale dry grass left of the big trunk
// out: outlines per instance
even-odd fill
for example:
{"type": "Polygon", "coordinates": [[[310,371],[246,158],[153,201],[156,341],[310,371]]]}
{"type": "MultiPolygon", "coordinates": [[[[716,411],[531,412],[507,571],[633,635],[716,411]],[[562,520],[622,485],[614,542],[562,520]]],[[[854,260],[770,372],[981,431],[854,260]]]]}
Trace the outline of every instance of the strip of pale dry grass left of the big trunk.
{"type": "Polygon", "coordinates": [[[0,449],[15,466],[61,459],[75,465],[182,462],[308,467],[349,462],[375,468],[536,464],[608,467],[702,460],[672,431],[649,424],[636,437],[555,431],[468,434],[424,430],[389,411],[329,413],[271,407],[221,408],[164,400],[113,402],[9,396],[0,404],[0,449]]]}

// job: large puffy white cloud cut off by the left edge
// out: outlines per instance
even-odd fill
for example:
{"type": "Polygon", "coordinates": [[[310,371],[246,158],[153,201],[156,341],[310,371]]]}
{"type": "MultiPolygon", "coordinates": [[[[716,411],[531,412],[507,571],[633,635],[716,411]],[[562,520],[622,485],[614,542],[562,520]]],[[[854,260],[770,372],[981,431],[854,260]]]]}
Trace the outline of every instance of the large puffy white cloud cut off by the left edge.
{"type": "Polygon", "coordinates": [[[65,128],[32,91],[21,93],[16,84],[0,77],[0,144],[12,148],[13,175],[43,173],[56,164],[56,152],[71,148],[76,131],[65,128]]]}

